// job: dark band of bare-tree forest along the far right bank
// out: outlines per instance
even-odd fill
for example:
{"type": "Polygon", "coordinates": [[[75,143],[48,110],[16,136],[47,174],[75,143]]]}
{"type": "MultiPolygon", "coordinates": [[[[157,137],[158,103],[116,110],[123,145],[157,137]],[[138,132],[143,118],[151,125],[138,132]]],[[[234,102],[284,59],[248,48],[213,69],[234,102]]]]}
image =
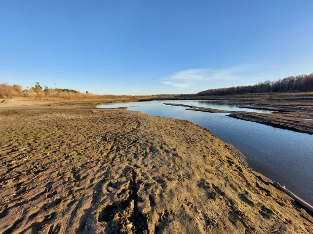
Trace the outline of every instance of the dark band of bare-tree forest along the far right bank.
{"type": "Polygon", "coordinates": [[[313,73],[309,75],[289,76],[276,81],[265,81],[254,85],[229,88],[214,88],[198,92],[196,96],[242,95],[262,92],[311,92],[313,91],[313,73]]]}

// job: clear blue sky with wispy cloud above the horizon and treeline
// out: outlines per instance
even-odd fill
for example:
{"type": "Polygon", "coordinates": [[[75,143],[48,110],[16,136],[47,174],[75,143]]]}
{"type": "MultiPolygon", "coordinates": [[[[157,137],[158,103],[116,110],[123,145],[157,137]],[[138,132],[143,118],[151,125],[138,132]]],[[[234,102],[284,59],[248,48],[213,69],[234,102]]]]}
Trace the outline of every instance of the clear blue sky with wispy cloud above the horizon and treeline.
{"type": "Polygon", "coordinates": [[[195,93],[313,72],[313,1],[0,0],[0,82],[195,93]]]}

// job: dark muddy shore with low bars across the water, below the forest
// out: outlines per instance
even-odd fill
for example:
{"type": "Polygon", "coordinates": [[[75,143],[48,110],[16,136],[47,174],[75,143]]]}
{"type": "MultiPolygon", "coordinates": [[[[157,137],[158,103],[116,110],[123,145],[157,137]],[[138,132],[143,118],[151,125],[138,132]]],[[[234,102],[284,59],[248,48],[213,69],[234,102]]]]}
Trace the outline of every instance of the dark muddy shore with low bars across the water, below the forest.
{"type": "Polygon", "coordinates": [[[171,106],[188,107],[186,108],[186,110],[191,111],[202,111],[211,113],[227,112],[230,113],[228,116],[232,118],[243,119],[247,121],[270,125],[273,127],[313,134],[313,100],[269,100],[266,102],[262,102],[260,100],[249,100],[240,102],[236,100],[222,100],[218,102],[215,100],[214,104],[234,105],[240,108],[268,110],[273,111],[273,113],[262,114],[244,111],[224,111],[198,106],[166,103],[166,105],[171,106]]]}

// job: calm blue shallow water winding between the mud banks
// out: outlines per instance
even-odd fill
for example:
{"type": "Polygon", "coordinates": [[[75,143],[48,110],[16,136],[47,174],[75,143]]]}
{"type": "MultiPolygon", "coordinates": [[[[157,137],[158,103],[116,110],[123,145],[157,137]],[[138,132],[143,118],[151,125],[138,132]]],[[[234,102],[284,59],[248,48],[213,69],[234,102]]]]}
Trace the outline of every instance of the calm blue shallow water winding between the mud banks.
{"type": "MultiPolygon", "coordinates": [[[[205,127],[213,135],[241,151],[246,156],[247,163],[254,170],[285,185],[291,192],[313,204],[313,135],[234,119],[226,116],[227,113],[188,111],[185,110],[186,107],[168,106],[163,103],[246,111],[236,105],[216,105],[203,101],[131,102],[106,104],[99,107],[135,106],[129,110],[189,120],[205,127]]],[[[270,111],[247,110],[270,113],[270,111]]]]}

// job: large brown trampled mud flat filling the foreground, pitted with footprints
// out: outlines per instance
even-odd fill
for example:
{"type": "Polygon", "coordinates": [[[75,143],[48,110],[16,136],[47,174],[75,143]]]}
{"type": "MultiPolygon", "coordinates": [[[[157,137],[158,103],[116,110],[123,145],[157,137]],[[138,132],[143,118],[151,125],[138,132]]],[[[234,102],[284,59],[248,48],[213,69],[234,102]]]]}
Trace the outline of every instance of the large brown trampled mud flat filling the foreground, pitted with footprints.
{"type": "Polygon", "coordinates": [[[188,121],[0,107],[1,233],[312,233],[313,217],[188,121]]]}

